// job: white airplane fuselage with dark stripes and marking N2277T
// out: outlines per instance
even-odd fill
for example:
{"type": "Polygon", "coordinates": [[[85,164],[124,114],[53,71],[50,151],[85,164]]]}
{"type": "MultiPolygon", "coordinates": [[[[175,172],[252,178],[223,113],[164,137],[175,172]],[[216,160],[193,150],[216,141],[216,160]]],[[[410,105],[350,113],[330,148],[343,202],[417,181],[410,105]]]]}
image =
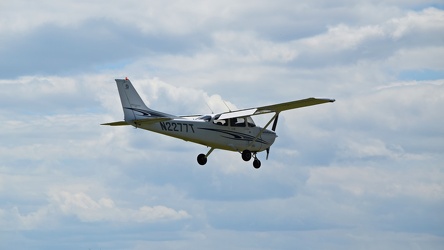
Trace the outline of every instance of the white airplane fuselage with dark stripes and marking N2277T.
{"type": "Polygon", "coordinates": [[[144,124],[138,128],[230,151],[260,152],[269,148],[277,135],[274,131],[257,127],[251,117],[218,120],[219,115],[176,118],[144,124]]]}

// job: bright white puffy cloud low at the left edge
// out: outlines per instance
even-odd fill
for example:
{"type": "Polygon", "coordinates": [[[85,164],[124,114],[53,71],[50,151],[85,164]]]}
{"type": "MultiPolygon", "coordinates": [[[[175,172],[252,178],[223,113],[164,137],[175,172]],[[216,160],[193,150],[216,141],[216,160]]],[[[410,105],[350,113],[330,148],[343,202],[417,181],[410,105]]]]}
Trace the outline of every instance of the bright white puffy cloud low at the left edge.
{"type": "Polygon", "coordinates": [[[50,195],[50,204],[35,211],[20,211],[14,206],[0,209],[2,231],[54,229],[62,217],[75,216],[81,222],[162,223],[192,218],[184,210],[166,206],[118,207],[110,198],[92,199],[83,192],[58,191],[50,195]]]}

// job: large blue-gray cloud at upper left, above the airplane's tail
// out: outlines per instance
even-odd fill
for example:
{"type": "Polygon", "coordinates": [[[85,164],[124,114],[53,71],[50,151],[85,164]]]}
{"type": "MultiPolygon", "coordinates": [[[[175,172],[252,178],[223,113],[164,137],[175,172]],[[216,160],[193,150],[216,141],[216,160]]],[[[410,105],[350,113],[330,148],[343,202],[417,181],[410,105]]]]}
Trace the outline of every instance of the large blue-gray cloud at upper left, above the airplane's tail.
{"type": "Polygon", "coordinates": [[[143,34],[134,27],[109,20],[93,19],[76,27],[45,25],[4,39],[0,73],[14,78],[35,74],[70,75],[119,67],[157,53],[186,53],[197,47],[192,41],[196,36],[143,34]]]}

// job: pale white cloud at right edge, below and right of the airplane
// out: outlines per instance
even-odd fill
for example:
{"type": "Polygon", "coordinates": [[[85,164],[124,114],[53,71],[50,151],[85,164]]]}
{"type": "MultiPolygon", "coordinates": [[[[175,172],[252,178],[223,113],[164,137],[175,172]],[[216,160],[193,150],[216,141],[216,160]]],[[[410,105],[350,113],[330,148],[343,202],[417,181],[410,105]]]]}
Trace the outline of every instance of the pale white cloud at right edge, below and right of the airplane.
{"type": "MultiPolygon", "coordinates": [[[[357,197],[412,197],[418,200],[443,199],[444,186],[438,166],[384,169],[371,167],[323,167],[310,171],[307,184],[314,189],[339,188],[357,197]],[[424,171],[427,169],[427,171],[424,171]]],[[[333,191],[330,191],[333,192],[333,191]]],[[[329,193],[330,193],[329,192],[329,193]]]]}

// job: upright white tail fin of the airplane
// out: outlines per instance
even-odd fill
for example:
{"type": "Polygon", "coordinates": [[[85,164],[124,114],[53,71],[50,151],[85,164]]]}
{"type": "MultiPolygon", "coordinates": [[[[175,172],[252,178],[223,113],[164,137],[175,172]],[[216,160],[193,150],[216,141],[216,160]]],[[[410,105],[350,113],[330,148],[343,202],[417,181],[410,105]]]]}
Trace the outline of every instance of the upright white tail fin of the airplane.
{"type": "Polygon", "coordinates": [[[122,102],[125,122],[131,123],[136,120],[153,118],[176,118],[174,115],[148,108],[128,78],[116,79],[116,84],[117,89],[119,90],[120,101],[122,102]]]}

